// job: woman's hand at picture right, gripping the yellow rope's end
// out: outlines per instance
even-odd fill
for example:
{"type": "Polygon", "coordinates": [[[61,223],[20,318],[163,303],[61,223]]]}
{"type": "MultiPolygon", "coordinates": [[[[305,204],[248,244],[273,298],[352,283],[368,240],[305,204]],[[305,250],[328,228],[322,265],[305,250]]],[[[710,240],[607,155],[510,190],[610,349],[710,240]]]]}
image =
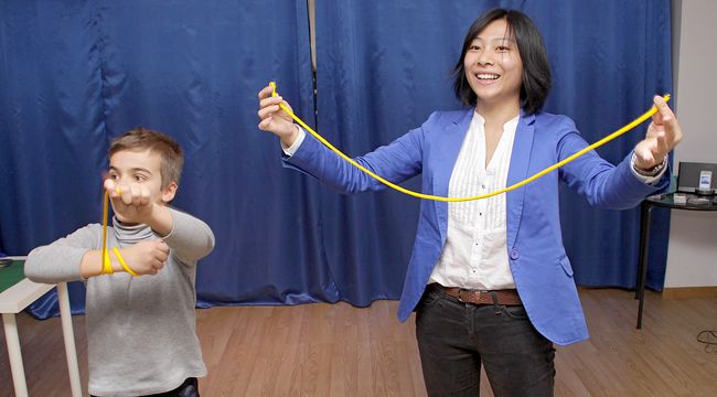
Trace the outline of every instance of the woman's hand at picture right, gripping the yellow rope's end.
{"type": "Polygon", "coordinates": [[[657,112],[652,116],[645,139],[635,146],[635,167],[651,170],[682,140],[682,129],[675,114],[661,96],[653,98],[657,112]]]}

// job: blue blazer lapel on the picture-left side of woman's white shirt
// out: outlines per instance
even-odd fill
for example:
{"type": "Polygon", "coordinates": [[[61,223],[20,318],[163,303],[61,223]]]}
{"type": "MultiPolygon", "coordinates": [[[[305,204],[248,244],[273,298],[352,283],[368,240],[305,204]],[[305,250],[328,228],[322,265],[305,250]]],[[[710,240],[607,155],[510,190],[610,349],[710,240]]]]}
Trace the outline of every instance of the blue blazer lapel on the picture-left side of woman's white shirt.
{"type": "MultiPolygon", "coordinates": [[[[467,109],[465,112],[457,117],[446,127],[443,133],[438,136],[436,142],[437,155],[434,167],[434,194],[439,196],[448,196],[448,184],[450,182],[453,167],[458,160],[458,153],[463,146],[465,133],[470,127],[475,108],[467,109]]],[[[438,218],[438,228],[440,230],[441,242],[446,242],[446,233],[448,232],[448,203],[434,201],[436,207],[436,215],[438,218]]]]}

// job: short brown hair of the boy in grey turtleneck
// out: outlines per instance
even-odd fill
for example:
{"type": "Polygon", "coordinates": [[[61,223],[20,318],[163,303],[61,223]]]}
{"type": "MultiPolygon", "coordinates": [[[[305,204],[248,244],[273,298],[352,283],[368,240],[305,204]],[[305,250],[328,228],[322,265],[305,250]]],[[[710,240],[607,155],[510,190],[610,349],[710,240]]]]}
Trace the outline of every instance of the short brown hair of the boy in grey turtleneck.
{"type": "Polygon", "coordinates": [[[162,132],[137,127],[121,137],[115,138],[109,144],[109,157],[122,150],[147,150],[160,155],[160,176],[162,190],[172,182],[179,184],[184,164],[184,153],[179,143],[162,132]]]}

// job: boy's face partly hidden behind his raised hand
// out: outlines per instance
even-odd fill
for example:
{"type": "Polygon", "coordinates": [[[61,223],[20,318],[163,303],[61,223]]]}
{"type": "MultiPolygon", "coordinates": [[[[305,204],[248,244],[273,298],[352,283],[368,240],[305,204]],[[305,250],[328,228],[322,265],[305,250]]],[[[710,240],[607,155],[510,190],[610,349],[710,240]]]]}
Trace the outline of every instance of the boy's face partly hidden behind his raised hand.
{"type": "Polygon", "coordinates": [[[150,203],[165,205],[174,198],[176,183],[172,182],[162,190],[161,164],[161,157],[149,149],[120,150],[109,158],[108,178],[120,189],[132,184],[147,187],[150,203]]]}

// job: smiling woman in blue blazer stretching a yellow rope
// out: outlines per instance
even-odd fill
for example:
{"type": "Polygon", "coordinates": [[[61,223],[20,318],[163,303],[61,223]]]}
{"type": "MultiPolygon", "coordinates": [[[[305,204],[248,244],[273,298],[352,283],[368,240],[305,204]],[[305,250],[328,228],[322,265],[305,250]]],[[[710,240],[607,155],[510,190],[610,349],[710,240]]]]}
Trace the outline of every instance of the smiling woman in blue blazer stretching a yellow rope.
{"type": "MultiPolygon", "coordinates": [[[[531,19],[493,10],[477,19],[456,65],[456,96],[386,147],[356,158],[402,182],[421,174],[425,193],[471,196],[512,185],[585,148],[574,122],[541,109],[550,88],[545,46],[531,19]]],[[[259,93],[259,129],[281,139],[285,164],[333,187],[385,189],[329,151],[259,93]]],[[[526,186],[465,203],[424,201],[398,316],[416,311],[430,396],[475,396],[484,365],[497,396],[552,396],[553,343],[588,337],[563,247],[558,183],[592,205],[629,208],[668,185],[667,153],[682,132],[665,101],[644,140],[617,167],[591,151],[526,186]]]]}

